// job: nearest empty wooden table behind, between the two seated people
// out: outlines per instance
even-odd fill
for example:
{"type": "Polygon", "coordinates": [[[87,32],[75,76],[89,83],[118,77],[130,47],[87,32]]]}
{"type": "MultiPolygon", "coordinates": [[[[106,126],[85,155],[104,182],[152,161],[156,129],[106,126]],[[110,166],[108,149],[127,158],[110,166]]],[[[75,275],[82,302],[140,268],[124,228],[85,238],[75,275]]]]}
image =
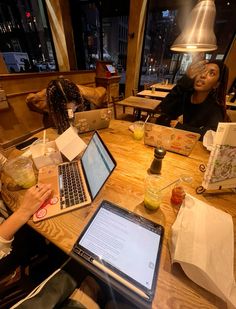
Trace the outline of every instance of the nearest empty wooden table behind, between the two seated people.
{"type": "Polygon", "coordinates": [[[134,109],[139,110],[139,111],[146,111],[147,113],[155,114],[160,103],[161,103],[160,100],[153,100],[153,99],[147,99],[147,98],[140,98],[136,96],[130,96],[128,98],[125,98],[124,100],[114,102],[114,116],[116,119],[117,118],[117,111],[116,111],[117,105],[120,105],[123,107],[133,107],[134,109]]]}

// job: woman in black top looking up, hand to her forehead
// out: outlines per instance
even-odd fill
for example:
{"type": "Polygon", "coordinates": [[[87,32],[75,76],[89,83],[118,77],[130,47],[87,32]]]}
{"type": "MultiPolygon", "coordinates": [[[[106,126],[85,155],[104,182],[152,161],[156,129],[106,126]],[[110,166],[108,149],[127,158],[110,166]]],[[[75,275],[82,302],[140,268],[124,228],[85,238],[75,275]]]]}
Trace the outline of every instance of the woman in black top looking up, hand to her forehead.
{"type": "Polygon", "coordinates": [[[219,61],[192,64],[186,74],[161,102],[158,124],[197,132],[216,130],[226,120],[225,95],[228,68],[219,61]],[[183,123],[177,118],[183,115],[183,123]]]}

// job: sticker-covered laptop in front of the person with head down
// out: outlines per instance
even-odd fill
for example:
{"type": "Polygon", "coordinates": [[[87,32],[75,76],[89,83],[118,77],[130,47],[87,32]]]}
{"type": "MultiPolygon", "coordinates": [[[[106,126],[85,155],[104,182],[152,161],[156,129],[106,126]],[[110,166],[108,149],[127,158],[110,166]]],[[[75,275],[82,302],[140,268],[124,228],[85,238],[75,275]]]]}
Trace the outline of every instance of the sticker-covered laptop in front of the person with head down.
{"type": "Polygon", "coordinates": [[[75,113],[74,126],[78,133],[105,129],[109,127],[111,111],[108,108],[93,109],[75,113]]]}

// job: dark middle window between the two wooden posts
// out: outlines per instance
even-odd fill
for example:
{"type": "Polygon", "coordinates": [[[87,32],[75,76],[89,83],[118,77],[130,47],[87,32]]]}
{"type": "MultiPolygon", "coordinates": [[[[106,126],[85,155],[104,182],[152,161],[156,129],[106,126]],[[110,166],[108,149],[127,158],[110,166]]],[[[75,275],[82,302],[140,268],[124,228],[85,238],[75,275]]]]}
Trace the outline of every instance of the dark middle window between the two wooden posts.
{"type": "Polygon", "coordinates": [[[111,61],[125,83],[129,1],[70,0],[78,69],[111,61]]]}

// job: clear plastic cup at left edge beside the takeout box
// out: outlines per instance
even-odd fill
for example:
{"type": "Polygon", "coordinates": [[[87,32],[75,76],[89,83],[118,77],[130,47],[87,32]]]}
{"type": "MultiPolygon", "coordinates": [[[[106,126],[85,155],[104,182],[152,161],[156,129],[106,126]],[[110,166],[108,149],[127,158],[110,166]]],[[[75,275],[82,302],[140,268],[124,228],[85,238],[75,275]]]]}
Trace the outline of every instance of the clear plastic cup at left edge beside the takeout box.
{"type": "Polygon", "coordinates": [[[16,185],[27,189],[36,184],[33,162],[26,157],[18,157],[6,162],[4,171],[16,185]]]}

